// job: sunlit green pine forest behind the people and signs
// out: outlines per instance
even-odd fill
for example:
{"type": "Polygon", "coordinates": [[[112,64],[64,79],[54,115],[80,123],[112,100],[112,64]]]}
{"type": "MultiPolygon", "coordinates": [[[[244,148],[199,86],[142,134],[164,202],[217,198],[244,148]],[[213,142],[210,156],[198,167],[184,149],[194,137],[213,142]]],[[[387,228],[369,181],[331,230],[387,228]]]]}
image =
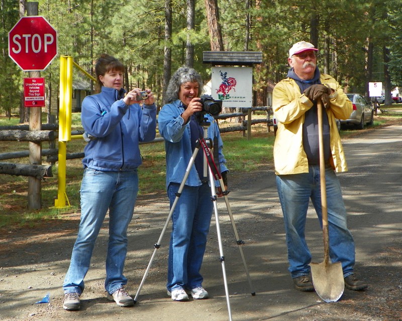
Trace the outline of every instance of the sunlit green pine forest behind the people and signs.
{"type": "MultiPolygon", "coordinates": [[[[26,2],[0,0],[0,7],[0,114],[18,113],[26,122],[27,75],[8,55],[8,32],[26,16],[26,2]]],[[[116,56],[127,66],[127,89],[151,88],[158,106],[179,66],[211,78],[211,65],[203,64],[203,51],[210,50],[263,53],[253,90],[254,105],[265,106],[266,89],[286,76],[288,50],[300,40],[319,48],[321,72],[345,91],[368,97],[368,83],[382,82],[391,103],[391,90],[402,87],[401,9],[402,0],[39,0],[39,15],[58,32],[59,55],[72,56],[92,75],[100,54],[116,56]]],[[[59,63],[56,58],[41,73],[48,116],[57,113],[59,63]]]]}

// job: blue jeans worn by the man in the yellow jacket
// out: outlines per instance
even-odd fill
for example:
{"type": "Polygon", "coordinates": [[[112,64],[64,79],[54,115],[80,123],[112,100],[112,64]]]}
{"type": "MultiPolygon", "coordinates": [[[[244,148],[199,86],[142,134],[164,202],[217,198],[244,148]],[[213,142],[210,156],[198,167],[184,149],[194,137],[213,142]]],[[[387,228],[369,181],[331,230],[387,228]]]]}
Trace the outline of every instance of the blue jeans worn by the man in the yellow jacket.
{"type": "MultiPolygon", "coordinates": [[[[325,182],[330,258],[332,262],[342,263],[343,274],[346,277],[353,274],[355,246],[346,224],[341,185],[330,167],[325,170],[325,182]]],[[[309,173],[277,176],[276,186],[285,223],[291,277],[307,275],[310,273],[311,253],[306,243],[305,227],[310,199],[322,226],[320,166],[309,166],[309,173]]]]}

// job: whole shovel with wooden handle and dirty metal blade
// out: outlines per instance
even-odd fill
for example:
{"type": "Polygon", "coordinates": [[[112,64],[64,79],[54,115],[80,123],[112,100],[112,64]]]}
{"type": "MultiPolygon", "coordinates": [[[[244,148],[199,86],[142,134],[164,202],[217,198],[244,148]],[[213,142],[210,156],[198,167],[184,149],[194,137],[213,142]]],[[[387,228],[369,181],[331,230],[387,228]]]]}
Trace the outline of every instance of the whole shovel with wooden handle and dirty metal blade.
{"type": "Polygon", "coordinates": [[[323,140],[323,103],[321,98],[317,101],[318,133],[320,147],[320,178],[321,178],[321,207],[323,216],[324,261],[310,263],[313,285],[318,296],[325,302],[335,302],[343,294],[345,281],[341,262],[330,261],[330,246],[328,233],[327,189],[325,184],[324,140],[323,140]]]}

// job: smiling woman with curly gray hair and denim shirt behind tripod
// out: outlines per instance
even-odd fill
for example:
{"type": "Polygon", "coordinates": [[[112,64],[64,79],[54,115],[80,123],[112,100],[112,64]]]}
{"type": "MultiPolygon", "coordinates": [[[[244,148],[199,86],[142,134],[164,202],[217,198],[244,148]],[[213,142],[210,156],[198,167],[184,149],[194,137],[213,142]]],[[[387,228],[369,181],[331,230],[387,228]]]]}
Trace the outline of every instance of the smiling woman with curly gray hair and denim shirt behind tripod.
{"type": "MultiPolygon", "coordinates": [[[[203,110],[199,98],[202,89],[201,76],[194,69],[179,68],[169,82],[167,104],[159,112],[159,132],[165,139],[166,188],[170,207],[190,163],[196,141],[204,137],[203,127],[196,117],[203,110]]],[[[207,130],[208,138],[218,138],[219,163],[227,185],[228,169],[222,153],[223,142],[218,124],[208,113],[203,116],[211,123],[207,130]]],[[[203,156],[203,150],[200,149],[172,213],[166,287],[168,295],[175,301],[188,300],[188,294],[194,299],[208,298],[199,270],[207,244],[213,202],[208,180],[202,181],[203,156]]]]}

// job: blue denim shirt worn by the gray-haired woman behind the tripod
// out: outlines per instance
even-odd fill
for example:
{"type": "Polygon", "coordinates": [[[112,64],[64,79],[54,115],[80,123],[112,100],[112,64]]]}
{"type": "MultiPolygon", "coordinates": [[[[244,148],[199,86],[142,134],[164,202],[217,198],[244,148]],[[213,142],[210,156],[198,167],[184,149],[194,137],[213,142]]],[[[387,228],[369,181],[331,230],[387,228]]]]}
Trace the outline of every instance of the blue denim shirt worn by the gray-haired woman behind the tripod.
{"type": "MultiPolygon", "coordinates": [[[[177,99],[172,103],[166,104],[162,107],[158,115],[159,133],[165,139],[166,150],[166,188],[170,183],[180,184],[186,173],[190,158],[193,154],[191,150],[191,134],[189,122],[184,123],[184,119],[181,114],[184,112],[182,102],[177,99]]],[[[223,142],[219,127],[214,119],[209,114],[205,117],[211,122],[208,127],[208,138],[214,139],[218,137],[218,150],[219,150],[219,164],[221,172],[228,171],[226,167],[226,159],[222,153],[223,142]]],[[[202,148],[198,152],[204,152],[202,148]]],[[[217,164],[218,167],[218,164],[217,164]]],[[[195,166],[189,170],[188,177],[185,185],[187,186],[200,186],[202,182],[198,177],[195,166]]],[[[219,182],[215,182],[216,186],[219,186],[219,182]]]]}

